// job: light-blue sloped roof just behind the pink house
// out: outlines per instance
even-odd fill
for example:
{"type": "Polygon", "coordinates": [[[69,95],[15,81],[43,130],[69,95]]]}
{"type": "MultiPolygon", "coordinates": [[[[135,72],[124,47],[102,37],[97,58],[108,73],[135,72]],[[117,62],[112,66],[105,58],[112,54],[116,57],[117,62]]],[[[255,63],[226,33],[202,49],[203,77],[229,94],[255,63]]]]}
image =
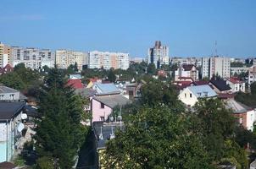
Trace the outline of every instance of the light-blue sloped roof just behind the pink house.
{"type": "Polygon", "coordinates": [[[94,84],[95,90],[97,90],[97,95],[107,95],[107,94],[119,94],[120,90],[113,84],[102,84],[96,82],[94,84]]]}

